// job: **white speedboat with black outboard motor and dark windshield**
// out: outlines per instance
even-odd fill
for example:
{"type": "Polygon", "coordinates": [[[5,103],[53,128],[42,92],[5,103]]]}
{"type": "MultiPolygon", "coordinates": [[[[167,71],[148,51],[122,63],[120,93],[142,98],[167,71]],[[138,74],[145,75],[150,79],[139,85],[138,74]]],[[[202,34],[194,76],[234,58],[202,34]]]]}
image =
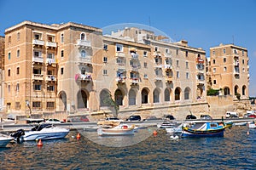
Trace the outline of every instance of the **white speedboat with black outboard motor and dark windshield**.
{"type": "Polygon", "coordinates": [[[69,129],[67,128],[55,127],[55,125],[50,123],[42,123],[32,127],[30,131],[20,129],[16,133],[12,133],[11,136],[15,137],[17,141],[29,141],[38,139],[62,139],[68,133],[69,129]]]}

